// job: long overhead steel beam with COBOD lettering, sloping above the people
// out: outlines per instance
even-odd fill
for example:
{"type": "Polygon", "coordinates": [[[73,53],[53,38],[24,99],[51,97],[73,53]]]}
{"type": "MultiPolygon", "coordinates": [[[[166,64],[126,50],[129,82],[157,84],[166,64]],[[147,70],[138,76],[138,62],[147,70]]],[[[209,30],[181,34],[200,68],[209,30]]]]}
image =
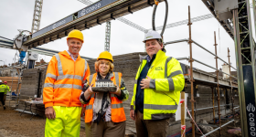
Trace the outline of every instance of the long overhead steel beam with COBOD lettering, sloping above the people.
{"type": "MultiPolygon", "coordinates": [[[[130,14],[127,10],[128,6],[130,6],[130,11],[136,12],[155,4],[154,0],[112,0],[112,3],[109,5],[102,7],[99,5],[100,3],[106,2],[108,1],[98,1],[93,5],[85,7],[80,11],[59,20],[59,22],[56,22],[55,24],[42,28],[37,31],[37,34],[32,34],[32,38],[27,37],[27,41],[25,41],[23,45],[28,46],[29,48],[37,47],[50,42],[50,40],[66,37],[66,34],[74,28],[84,30],[86,29],[85,24],[87,27],[92,27],[97,26],[99,23],[102,24],[108,22],[112,20],[112,18],[125,16],[130,14]],[[95,9],[96,5],[99,8],[95,9]],[[89,9],[91,9],[91,12],[87,13],[89,9]],[[70,18],[71,16],[73,16],[73,18],[70,18]],[[68,21],[65,22],[64,20],[68,21]],[[46,32],[44,33],[44,31],[46,32]]],[[[160,2],[162,2],[162,0],[160,2]]]]}

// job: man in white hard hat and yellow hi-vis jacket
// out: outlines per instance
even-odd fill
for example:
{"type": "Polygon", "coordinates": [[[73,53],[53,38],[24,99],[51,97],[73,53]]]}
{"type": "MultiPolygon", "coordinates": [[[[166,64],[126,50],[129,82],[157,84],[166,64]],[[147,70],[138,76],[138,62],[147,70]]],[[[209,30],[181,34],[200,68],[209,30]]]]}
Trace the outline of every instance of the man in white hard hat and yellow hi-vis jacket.
{"type": "Polygon", "coordinates": [[[169,121],[175,120],[185,79],[176,58],[165,55],[163,39],[156,31],[148,32],[144,43],[148,55],[136,74],[130,117],[137,136],[165,137],[169,121]]]}

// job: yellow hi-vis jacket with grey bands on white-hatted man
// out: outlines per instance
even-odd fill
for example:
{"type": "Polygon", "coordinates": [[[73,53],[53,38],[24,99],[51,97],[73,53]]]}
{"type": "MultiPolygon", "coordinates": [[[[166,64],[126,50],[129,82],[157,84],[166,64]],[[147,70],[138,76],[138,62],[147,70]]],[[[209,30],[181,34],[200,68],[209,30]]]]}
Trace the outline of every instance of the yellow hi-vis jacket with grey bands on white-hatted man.
{"type": "MultiPolygon", "coordinates": [[[[146,59],[137,71],[131,102],[135,110],[137,80],[143,70],[146,59]]],[[[167,57],[159,50],[147,72],[151,78],[149,89],[144,89],[144,120],[162,120],[176,113],[180,91],[184,89],[185,79],[182,68],[176,58],[167,57]]]]}

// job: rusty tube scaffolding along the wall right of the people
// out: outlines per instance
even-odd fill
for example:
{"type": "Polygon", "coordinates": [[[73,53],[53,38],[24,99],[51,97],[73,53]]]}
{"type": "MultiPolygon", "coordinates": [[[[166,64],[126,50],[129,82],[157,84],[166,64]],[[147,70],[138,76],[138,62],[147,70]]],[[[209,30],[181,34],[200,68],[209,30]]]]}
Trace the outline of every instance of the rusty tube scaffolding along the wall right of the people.
{"type": "MultiPolygon", "coordinates": [[[[188,74],[188,76],[185,76],[185,80],[186,80],[186,82],[187,83],[190,83],[190,86],[191,86],[191,114],[192,114],[192,116],[191,116],[191,119],[192,119],[192,121],[191,121],[191,123],[192,123],[192,136],[193,137],[195,137],[195,124],[197,124],[196,123],[196,121],[195,121],[195,110],[205,110],[205,109],[209,109],[209,108],[212,108],[213,109],[213,121],[214,121],[214,123],[215,123],[215,107],[216,106],[214,106],[214,100],[215,100],[215,97],[214,97],[214,88],[216,88],[217,90],[218,90],[218,115],[219,115],[219,127],[217,128],[217,129],[215,129],[214,131],[212,131],[212,132],[215,132],[215,131],[217,131],[217,130],[219,130],[219,136],[221,136],[221,128],[222,127],[224,127],[224,126],[226,126],[226,125],[228,125],[230,122],[232,122],[232,121],[234,121],[234,119],[233,120],[231,120],[231,121],[228,121],[227,123],[225,123],[225,124],[223,124],[223,125],[221,125],[221,118],[220,118],[220,106],[223,106],[223,105],[220,105],[220,103],[219,103],[219,97],[220,97],[220,95],[219,95],[219,88],[225,88],[225,89],[230,89],[231,90],[231,94],[232,94],[232,91],[233,91],[233,89],[238,89],[237,87],[235,87],[235,86],[233,86],[233,84],[232,84],[232,81],[231,81],[231,78],[234,78],[234,79],[237,79],[236,77],[233,77],[233,76],[231,76],[231,73],[230,73],[230,68],[233,68],[231,65],[230,65],[230,61],[229,61],[229,63],[228,62],[226,62],[224,59],[222,59],[222,58],[219,58],[218,56],[217,56],[217,43],[216,43],[216,32],[214,32],[214,41],[215,41],[215,43],[214,43],[214,46],[215,46],[215,54],[214,53],[212,53],[212,52],[210,52],[207,48],[205,48],[205,47],[203,47],[203,46],[201,46],[200,44],[198,44],[196,41],[194,41],[194,40],[192,40],[192,33],[191,33],[191,25],[192,25],[192,23],[190,22],[190,6],[188,6],[188,24],[187,24],[187,26],[188,26],[188,29],[189,29],[189,38],[187,39],[187,38],[185,38],[185,39],[179,39],[179,40],[175,40],[175,41],[170,41],[170,42],[165,42],[165,46],[166,45],[170,45],[170,44],[176,44],[176,43],[180,43],[180,42],[187,42],[188,44],[189,44],[189,58],[176,58],[177,60],[184,60],[184,59],[186,59],[186,60],[188,60],[188,62],[189,62],[189,74],[188,74]],[[203,63],[203,62],[201,62],[201,61],[199,61],[199,60],[197,60],[197,59],[195,59],[195,58],[193,58],[192,57],[192,44],[195,44],[197,47],[200,47],[200,48],[202,48],[202,49],[204,49],[205,51],[207,51],[208,53],[210,53],[211,55],[213,55],[214,56],[214,58],[216,59],[216,68],[214,68],[214,67],[211,67],[211,66],[209,66],[208,64],[206,64],[206,63],[203,63]],[[224,63],[226,63],[227,65],[229,65],[229,74],[228,73],[226,73],[226,72],[223,72],[223,71],[221,71],[221,70],[219,70],[219,68],[218,68],[218,60],[221,60],[222,62],[224,62],[224,63]],[[201,64],[201,65],[204,65],[204,66],[206,66],[206,67],[208,67],[208,68],[213,68],[213,69],[215,69],[215,72],[216,72],[216,81],[215,82],[212,82],[212,81],[208,81],[208,80],[204,80],[204,79],[197,79],[197,78],[194,78],[194,76],[193,76],[193,71],[195,71],[194,70],[194,68],[193,68],[193,62],[197,62],[197,63],[199,63],[199,64],[201,64]],[[229,85],[225,85],[225,84],[221,84],[221,83],[219,83],[219,79],[221,79],[221,77],[219,77],[219,72],[222,72],[223,74],[226,74],[226,75],[228,75],[229,76],[229,85]],[[195,85],[194,85],[195,84],[195,85]],[[195,86],[196,85],[205,85],[205,86],[208,86],[208,87],[210,87],[211,89],[212,89],[212,104],[213,104],[213,106],[212,107],[208,107],[208,108],[201,108],[201,109],[195,109],[195,100],[194,100],[194,88],[195,88],[195,86]],[[195,122],[194,122],[195,121],[195,122]]],[[[229,48],[228,48],[228,58],[230,57],[230,55],[229,55],[229,48]]],[[[236,68],[234,68],[234,69],[236,69],[236,68]]],[[[232,106],[232,116],[233,116],[233,118],[234,118],[234,116],[235,116],[235,109],[234,109],[234,107],[235,107],[235,105],[234,105],[234,100],[233,100],[233,95],[232,95],[232,98],[231,98],[231,106],[232,106]]],[[[227,105],[227,104],[226,104],[227,105]]],[[[226,105],[224,105],[224,106],[226,106],[226,105]]],[[[228,104],[229,105],[229,104],[228,104]]],[[[181,113],[183,113],[183,112],[181,112],[181,113]]],[[[184,124],[184,120],[181,120],[182,121],[182,124],[184,124]]],[[[184,132],[185,132],[186,130],[181,130],[181,136],[185,136],[185,134],[184,134],[184,132]]],[[[205,134],[205,135],[203,135],[203,136],[206,136],[206,135],[208,135],[208,134],[210,134],[210,133],[212,133],[212,132],[208,132],[207,134],[205,134]]]]}

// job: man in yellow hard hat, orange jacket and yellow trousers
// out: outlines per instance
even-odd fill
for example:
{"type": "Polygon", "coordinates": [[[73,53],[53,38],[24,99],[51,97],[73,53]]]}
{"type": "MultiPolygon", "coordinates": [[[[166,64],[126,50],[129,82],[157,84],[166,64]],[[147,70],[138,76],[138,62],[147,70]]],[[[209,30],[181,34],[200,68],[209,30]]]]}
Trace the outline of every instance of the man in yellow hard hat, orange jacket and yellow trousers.
{"type": "Polygon", "coordinates": [[[48,63],[43,99],[47,116],[45,136],[80,136],[82,108],[80,92],[90,76],[87,61],[80,58],[83,44],[80,30],[74,29],[67,37],[68,51],[59,52],[48,63]]]}

